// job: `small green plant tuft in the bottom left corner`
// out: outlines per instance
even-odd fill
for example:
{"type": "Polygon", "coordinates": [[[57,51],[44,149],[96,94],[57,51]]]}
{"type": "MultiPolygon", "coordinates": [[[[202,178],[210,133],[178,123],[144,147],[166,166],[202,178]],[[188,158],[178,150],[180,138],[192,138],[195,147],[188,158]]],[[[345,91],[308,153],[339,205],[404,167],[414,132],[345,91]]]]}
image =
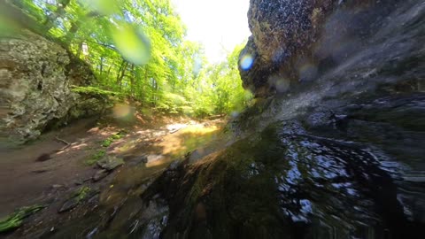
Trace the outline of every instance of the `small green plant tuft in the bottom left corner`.
{"type": "Polygon", "coordinates": [[[23,220],[28,216],[42,210],[43,205],[24,206],[13,212],[11,215],[0,220],[0,233],[8,232],[22,226],[23,220]]]}

